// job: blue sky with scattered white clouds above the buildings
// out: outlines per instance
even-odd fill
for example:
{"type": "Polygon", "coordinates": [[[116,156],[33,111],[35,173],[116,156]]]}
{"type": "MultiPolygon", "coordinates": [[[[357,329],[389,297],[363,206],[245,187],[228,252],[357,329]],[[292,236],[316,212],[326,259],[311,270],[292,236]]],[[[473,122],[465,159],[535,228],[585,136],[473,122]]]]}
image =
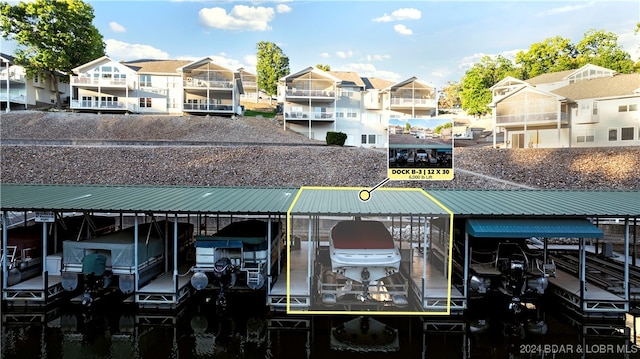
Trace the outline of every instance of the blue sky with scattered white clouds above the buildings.
{"type": "MultiPolygon", "coordinates": [[[[546,38],[618,35],[638,59],[640,1],[88,1],[114,60],[214,58],[255,73],[256,43],[276,43],[291,72],[332,70],[441,87],[483,55],[514,58],[546,38]]],[[[1,40],[0,51],[15,44],[1,40]]]]}

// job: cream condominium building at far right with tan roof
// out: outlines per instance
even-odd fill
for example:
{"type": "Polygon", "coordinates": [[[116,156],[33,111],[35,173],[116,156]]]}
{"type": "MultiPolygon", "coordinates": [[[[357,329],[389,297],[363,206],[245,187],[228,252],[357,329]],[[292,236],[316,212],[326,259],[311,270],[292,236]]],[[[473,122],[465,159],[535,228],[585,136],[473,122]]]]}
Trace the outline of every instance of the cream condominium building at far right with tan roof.
{"type": "Polygon", "coordinates": [[[640,74],[595,65],[491,87],[495,132],[506,148],[640,145],[640,74]]]}

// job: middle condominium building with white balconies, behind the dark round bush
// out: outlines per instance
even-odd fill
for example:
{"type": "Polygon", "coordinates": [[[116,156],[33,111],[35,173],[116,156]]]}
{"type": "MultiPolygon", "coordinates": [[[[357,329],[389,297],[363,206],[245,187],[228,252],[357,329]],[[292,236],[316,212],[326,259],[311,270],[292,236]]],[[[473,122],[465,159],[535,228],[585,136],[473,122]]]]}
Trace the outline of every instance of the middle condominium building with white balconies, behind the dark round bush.
{"type": "Polygon", "coordinates": [[[394,83],[355,72],[308,67],[278,84],[284,127],[324,140],[347,134],[345,145],[388,147],[390,118],[425,118],[437,113],[435,88],[415,77],[394,83]]]}

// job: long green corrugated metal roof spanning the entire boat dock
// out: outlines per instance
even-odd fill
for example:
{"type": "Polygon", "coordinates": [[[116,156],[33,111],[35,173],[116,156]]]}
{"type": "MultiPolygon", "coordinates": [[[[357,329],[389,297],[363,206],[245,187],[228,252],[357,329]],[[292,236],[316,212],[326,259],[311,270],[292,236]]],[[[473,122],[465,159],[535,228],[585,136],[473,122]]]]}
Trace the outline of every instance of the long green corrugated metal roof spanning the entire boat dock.
{"type": "Polygon", "coordinates": [[[640,191],[169,187],[0,184],[7,211],[444,214],[466,217],[640,216],[640,191]],[[293,205],[293,207],[292,207],[293,205]]]}

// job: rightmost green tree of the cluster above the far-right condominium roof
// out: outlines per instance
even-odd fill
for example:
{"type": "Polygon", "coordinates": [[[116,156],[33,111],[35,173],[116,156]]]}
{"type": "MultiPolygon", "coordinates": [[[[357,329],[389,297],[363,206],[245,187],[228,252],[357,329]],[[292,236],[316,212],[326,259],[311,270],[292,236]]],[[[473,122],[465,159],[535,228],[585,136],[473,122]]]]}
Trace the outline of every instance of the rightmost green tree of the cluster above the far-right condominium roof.
{"type": "Polygon", "coordinates": [[[604,30],[589,30],[576,45],[578,65],[593,64],[620,73],[633,72],[631,55],[618,44],[618,35],[604,30]]]}

